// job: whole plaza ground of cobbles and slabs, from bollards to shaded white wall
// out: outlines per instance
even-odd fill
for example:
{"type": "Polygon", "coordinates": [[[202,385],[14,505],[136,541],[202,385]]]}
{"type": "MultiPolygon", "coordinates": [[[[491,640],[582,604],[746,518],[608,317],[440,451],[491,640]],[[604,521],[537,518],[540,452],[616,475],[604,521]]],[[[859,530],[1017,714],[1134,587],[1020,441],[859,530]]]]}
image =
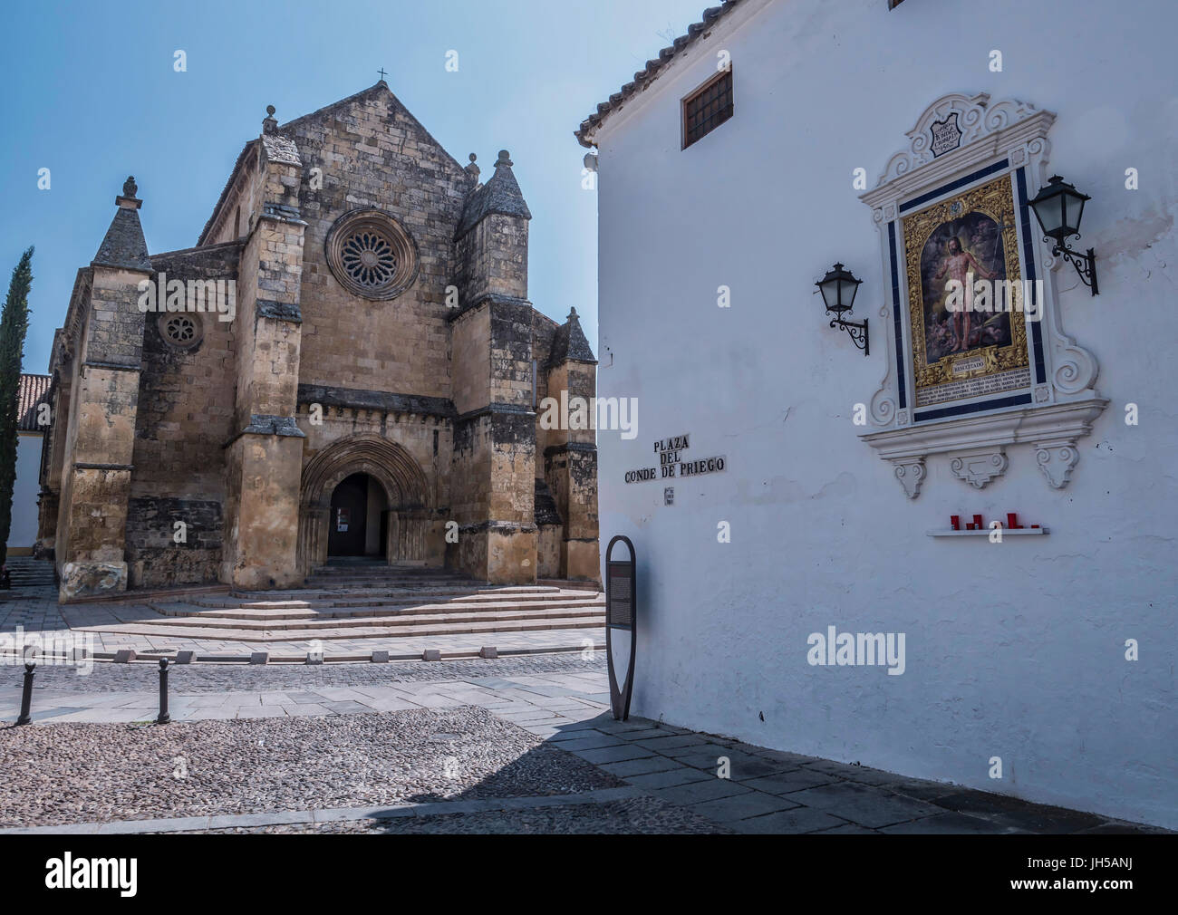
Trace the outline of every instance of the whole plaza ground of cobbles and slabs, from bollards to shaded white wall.
{"type": "MultiPolygon", "coordinates": [[[[4,687],[0,720],[15,718],[19,682],[16,668],[0,678],[4,687]]],[[[254,734],[260,740],[278,741],[276,752],[283,771],[292,778],[307,774],[305,794],[293,796],[266,789],[252,798],[246,796],[234,807],[211,803],[204,795],[185,801],[184,793],[171,783],[168,790],[157,784],[146,794],[133,794],[130,807],[120,801],[125,809],[114,801],[108,808],[87,807],[77,800],[74,808],[71,802],[53,807],[54,802],[46,801],[54,810],[54,822],[88,823],[75,830],[84,833],[278,828],[366,834],[1164,831],[1096,814],[1028,804],[1005,795],[769,750],[660,722],[641,718],[617,722],[608,710],[601,652],[588,662],[580,655],[555,655],[336,667],[181,667],[173,671],[170,702],[173,721],[178,723],[165,728],[146,725],[154,717],[158,703],[158,671],[152,665],[101,663],[82,677],[67,668],[48,668],[38,672],[37,682],[34,724],[0,730],[0,754],[4,754],[0,770],[5,771],[8,785],[0,790],[15,797],[9,802],[11,813],[4,817],[6,823],[35,822],[35,813],[21,807],[22,793],[32,790],[40,793],[39,797],[52,797],[57,791],[72,797],[71,793],[78,791],[82,795],[87,790],[93,794],[94,789],[110,791],[111,783],[105,781],[100,768],[95,770],[87,763],[90,757],[112,758],[121,754],[140,764],[146,758],[154,761],[154,771],[161,754],[172,751],[164,747],[172,744],[157,745],[150,740],[166,738],[192,747],[193,758],[200,758],[204,750],[199,744],[184,743],[192,740],[185,736],[187,730],[210,742],[207,751],[218,764],[254,767],[250,769],[254,773],[251,777],[260,777],[263,783],[270,783],[258,768],[266,764],[266,756],[253,745],[254,734]],[[444,725],[451,730],[437,731],[434,729],[443,725],[429,722],[428,717],[406,717],[399,722],[397,712],[402,711],[448,712],[458,718],[444,725]],[[241,721],[245,718],[254,721],[241,721]],[[491,730],[491,721],[505,730],[491,730]],[[88,730],[67,730],[79,727],[88,730]],[[385,730],[401,735],[398,740],[412,748],[408,757],[379,743],[385,730]],[[471,794],[472,800],[468,800],[459,794],[463,800],[457,803],[466,805],[448,807],[451,801],[446,798],[456,795],[445,794],[445,783],[437,776],[438,760],[442,758],[444,767],[448,756],[461,758],[461,755],[439,756],[445,754],[445,743],[437,747],[430,743],[438,735],[462,747],[490,744],[483,762],[472,765],[471,777],[476,784],[491,785],[489,793],[494,797],[471,794]],[[409,769],[404,768],[406,763],[409,769]],[[575,768],[574,763],[590,764],[601,781],[594,781],[587,769],[575,768]],[[495,773],[510,773],[512,767],[527,771],[517,790],[509,787],[510,778],[495,781],[495,773]],[[350,777],[350,773],[359,775],[350,777]],[[373,795],[372,790],[383,794],[373,795]],[[602,790],[631,794],[602,798],[597,794],[602,790]],[[544,797],[552,791],[571,794],[557,803],[544,797]],[[165,810],[152,808],[152,797],[180,801],[165,810]],[[424,805],[413,805],[422,798],[424,805]],[[371,808],[372,803],[389,801],[403,801],[410,807],[388,815],[371,808]],[[349,809],[340,811],[323,804],[348,804],[349,809]],[[364,808],[356,809],[356,804],[364,808]],[[72,816],[71,809],[77,810],[72,816]],[[88,815],[87,810],[93,813],[88,815]],[[236,816],[234,810],[250,813],[236,816]],[[205,818],[118,822],[161,815],[205,818]]],[[[178,750],[176,755],[184,754],[178,750]]],[[[119,765],[115,771],[121,771],[119,765]]],[[[161,777],[172,776],[165,773],[161,777]]],[[[443,773],[442,777],[448,776],[443,773]]],[[[240,801],[240,795],[232,794],[231,783],[223,787],[231,800],[240,801]]],[[[462,790],[474,791],[474,788],[463,782],[462,790]]]]}

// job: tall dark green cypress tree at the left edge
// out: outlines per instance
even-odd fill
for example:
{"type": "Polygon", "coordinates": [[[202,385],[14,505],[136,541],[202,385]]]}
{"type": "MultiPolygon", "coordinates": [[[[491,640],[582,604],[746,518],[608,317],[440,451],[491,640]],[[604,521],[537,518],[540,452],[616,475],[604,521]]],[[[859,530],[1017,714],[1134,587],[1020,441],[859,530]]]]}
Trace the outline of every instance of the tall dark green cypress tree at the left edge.
{"type": "Polygon", "coordinates": [[[0,312],[0,565],[8,558],[12,532],[12,490],[16,482],[16,410],[20,366],[28,332],[28,290],[33,285],[33,248],[12,271],[8,297],[0,312]]]}

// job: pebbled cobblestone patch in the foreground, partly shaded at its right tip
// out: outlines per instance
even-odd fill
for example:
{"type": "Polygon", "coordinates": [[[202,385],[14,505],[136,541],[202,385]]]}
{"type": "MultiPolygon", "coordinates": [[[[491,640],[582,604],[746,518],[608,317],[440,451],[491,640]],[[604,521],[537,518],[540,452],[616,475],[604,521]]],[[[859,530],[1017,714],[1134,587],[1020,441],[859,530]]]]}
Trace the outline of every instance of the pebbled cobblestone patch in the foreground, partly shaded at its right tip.
{"type": "Polygon", "coordinates": [[[0,827],[535,797],[624,783],[472,705],[0,736],[0,827]]]}

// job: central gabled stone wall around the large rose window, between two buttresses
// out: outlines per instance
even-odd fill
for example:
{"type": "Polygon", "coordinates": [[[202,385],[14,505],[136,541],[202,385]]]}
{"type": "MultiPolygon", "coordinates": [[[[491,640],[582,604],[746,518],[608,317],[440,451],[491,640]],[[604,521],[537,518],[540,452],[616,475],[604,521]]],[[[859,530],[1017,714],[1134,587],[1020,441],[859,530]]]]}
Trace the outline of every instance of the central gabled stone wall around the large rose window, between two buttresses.
{"type": "Polygon", "coordinates": [[[452,239],[469,177],[383,89],[300,118],[283,134],[303,160],[307,223],[300,380],[449,398],[445,289],[454,283],[452,239]],[[311,170],[322,173],[322,187],[312,186],[311,170]],[[417,279],[391,301],[352,294],[327,266],[327,233],[359,207],[385,211],[417,244],[417,279]]]}

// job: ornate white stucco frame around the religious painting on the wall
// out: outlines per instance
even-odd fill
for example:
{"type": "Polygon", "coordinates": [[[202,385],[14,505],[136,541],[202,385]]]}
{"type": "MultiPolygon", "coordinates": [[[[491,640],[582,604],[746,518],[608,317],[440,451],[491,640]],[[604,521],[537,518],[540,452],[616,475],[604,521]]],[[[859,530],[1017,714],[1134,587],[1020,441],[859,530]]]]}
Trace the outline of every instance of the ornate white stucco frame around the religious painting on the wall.
{"type": "Polygon", "coordinates": [[[879,314],[886,327],[888,362],[871,399],[873,429],[860,438],[893,465],[909,499],[920,495],[929,457],[944,456],[955,477],[982,489],[1006,472],[1006,449],[1020,444],[1030,445],[1047,482],[1063,489],[1079,458],[1077,440],[1092,431],[1092,423],[1108,405],[1096,389],[1096,357],[1063,330],[1054,283],[1063,261],[1051,256],[1028,206],[1046,184],[1047,133],[1054,120],[1051,112],[1021,101],[991,104],[985,93],[945,95],[908,131],[908,146],[892,157],[875,188],[860,197],[872,208],[880,233],[885,303],[879,314]],[[955,124],[957,131],[946,141],[947,122],[955,124]],[[934,131],[934,125],[941,130],[934,131]],[[957,132],[960,137],[953,135],[957,132]],[[934,139],[940,146],[937,152],[934,139]],[[1043,280],[1041,317],[1027,323],[1031,390],[916,407],[902,219],[1001,175],[1010,175],[1014,188],[1025,278],[1043,280]]]}

